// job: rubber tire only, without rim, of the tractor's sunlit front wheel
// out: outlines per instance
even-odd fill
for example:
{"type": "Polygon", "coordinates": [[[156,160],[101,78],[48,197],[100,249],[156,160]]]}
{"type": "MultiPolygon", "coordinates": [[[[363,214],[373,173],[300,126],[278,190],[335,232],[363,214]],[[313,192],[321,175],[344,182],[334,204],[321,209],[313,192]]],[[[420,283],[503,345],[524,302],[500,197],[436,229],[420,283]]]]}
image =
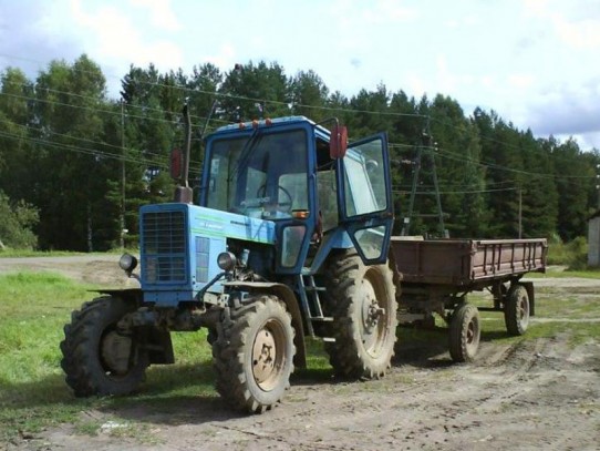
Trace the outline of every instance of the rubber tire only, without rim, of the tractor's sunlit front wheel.
{"type": "MultiPolygon", "coordinates": [[[[259,325],[260,327],[260,325],[259,325]]],[[[294,330],[291,315],[282,301],[275,296],[261,296],[257,300],[238,309],[230,310],[230,318],[225,315],[218,325],[218,338],[213,344],[213,366],[216,373],[216,389],[224,400],[234,409],[261,413],[272,409],[280,402],[289,389],[289,377],[293,372],[294,330]],[[247,352],[251,352],[255,339],[254,329],[260,318],[279,316],[288,334],[289,344],[286,356],[283,377],[278,387],[269,392],[258,392],[251,377],[251,369],[246,368],[247,352]]]]}

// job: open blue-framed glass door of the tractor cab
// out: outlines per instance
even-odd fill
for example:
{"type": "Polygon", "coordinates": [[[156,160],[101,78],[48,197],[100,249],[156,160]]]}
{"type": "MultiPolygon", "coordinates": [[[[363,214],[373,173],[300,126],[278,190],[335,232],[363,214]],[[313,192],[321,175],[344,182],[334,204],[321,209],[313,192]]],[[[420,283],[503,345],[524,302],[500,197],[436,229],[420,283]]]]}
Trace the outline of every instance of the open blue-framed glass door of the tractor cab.
{"type": "Polygon", "coordinates": [[[350,144],[337,165],[341,226],[365,265],[385,263],[394,222],[387,135],[350,144]]]}

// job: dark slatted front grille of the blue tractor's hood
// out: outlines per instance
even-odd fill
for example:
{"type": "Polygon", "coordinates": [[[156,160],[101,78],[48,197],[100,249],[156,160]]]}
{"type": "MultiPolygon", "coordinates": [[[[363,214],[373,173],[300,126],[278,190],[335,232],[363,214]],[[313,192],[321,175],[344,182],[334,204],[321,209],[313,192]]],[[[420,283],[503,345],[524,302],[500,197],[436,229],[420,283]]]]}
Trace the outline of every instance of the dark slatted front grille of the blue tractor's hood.
{"type": "Polygon", "coordinates": [[[148,284],[185,283],[185,212],[147,212],[142,216],[142,277],[148,284]]]}

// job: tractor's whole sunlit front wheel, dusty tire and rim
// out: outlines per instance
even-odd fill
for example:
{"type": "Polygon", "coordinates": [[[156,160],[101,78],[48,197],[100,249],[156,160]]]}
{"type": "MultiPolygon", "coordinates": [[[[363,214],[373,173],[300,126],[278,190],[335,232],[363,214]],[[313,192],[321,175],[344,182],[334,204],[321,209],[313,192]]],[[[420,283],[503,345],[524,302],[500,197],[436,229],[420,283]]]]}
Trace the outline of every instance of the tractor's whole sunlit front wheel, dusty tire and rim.
{"type": "Polygon", "coordinates": [[[275,296],[230,310],[213,344],[219,394],[237,410],[270,410],[290,387],[293,336],[291,316],[275,296]]]}

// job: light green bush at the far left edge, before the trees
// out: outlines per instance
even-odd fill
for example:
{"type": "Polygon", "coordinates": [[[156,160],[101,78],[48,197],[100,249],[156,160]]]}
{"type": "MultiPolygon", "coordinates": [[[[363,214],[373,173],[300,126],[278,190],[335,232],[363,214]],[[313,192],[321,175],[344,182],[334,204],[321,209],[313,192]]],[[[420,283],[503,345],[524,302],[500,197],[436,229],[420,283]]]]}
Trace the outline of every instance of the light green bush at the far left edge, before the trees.
{"type": "Polygon", "coordinates": [[[4,246],[33,249],[38,245],[38,237],[32,230],[40,221],[38,208],[23,201],[11,203],[9,197],[0,192],[0,250],[4,246]]]}

